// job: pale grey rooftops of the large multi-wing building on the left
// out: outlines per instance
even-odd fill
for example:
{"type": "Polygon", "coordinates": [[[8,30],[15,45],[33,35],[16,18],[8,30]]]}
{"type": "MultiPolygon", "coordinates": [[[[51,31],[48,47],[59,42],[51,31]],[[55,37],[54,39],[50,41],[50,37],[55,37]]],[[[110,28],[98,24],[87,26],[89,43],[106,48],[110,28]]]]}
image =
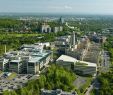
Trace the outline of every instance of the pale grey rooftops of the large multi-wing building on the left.
{"type": "Polygon", "coordinates": [[[33,45],[28,45],[28,47],[26,47],[27,45],[24,46],[22,46],[23,48],[19,51],[10,51],[5,53],[4,57],[11,59],[11,62],[20,62],[22,60],[28,60],[28,62],[39,62],[51,53],[51,51],[40,49],[40,47],[35,48],[36,45],[34,45],[34,47],[33,45]]]}

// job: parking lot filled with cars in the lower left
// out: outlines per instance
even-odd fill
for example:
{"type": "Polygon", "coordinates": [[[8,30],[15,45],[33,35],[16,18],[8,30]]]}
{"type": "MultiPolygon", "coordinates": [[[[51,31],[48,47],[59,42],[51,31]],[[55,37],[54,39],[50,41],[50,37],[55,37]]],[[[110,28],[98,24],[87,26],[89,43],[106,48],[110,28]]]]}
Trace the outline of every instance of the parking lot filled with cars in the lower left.
{"type": "MultiPolygon", "coordinates": [[[[10,75],[11,76],[11,75],[10,75]]],[[[16,76],[9,78],[10,76],[5,76],[4,73],[0,74],[0,92],[2,93],[5,90],[15,90],[19,89],[28,82],[28,80],[34,77],[32,74],[21,75],[17,74],[16,76]]]]}

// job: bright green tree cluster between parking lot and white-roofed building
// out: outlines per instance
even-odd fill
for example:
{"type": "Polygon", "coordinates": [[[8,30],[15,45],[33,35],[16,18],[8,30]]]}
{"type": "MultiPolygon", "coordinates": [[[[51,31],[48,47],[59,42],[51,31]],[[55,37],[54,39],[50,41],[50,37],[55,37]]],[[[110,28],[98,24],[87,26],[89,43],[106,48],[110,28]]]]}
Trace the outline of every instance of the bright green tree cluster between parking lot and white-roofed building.
{"type": "Polygon", "coordinates": [[[52,65],[39,79],[29,81],[26,87],[16,91],[5,91],[3,95],[40,95],[42,88],[71,91],[75,90],[72,84],[75,79],[76,75],[73,72],[63,67],[52,65]]]}

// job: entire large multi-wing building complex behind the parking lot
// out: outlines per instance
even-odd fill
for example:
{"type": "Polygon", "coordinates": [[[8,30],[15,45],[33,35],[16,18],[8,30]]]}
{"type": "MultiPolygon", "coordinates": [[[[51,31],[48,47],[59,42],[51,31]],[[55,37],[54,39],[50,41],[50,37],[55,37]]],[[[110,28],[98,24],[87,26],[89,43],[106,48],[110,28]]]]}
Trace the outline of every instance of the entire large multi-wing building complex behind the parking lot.
{"type": "Polygon", "coordinates": [[[1,70],[19,74],[37,74],[52,60],[52,52],[38,45],[23,45],[19,51],[4,54],[1,70]],[[6,61],[7,59],[7,61],[6,61]],[[7,65],[5,65],[7,64],[7,65]]]}

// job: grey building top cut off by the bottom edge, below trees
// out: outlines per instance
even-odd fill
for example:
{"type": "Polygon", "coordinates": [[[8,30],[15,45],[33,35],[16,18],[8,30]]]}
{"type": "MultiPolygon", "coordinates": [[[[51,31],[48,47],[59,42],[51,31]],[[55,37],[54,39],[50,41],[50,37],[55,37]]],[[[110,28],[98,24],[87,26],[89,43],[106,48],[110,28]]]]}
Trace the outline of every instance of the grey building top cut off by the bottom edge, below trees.
{"type": "Polygon", "coordinates": [[[56,90],[45,90],[41,89],[41,95],[78,95],[77,92],[65,92],[61,89],[56,90]]]}

